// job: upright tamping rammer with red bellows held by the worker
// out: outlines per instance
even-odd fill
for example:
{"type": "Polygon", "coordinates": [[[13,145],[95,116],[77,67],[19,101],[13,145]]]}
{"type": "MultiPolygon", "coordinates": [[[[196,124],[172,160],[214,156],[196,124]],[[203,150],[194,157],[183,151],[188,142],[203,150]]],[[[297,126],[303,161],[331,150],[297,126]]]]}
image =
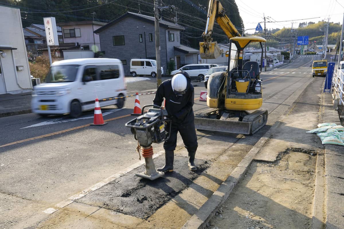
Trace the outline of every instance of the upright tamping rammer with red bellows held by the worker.
{"type": "Polygon", "coordinates": [[[131,133],[134,134],[134,138],[138,140],[146,166],[146,171],[135,175],[149,180],[155,180],[164,175],[163,172],[155,169],[152,143],[161,143],[170,138],[171,120],[167,116],[167,111],[160,106],[146,105],[142,107],[139,117],[126,123],[126,126],[130,127],[131,133]],[[148,109],[148,112],[144,114],[146,107],[153,108],[148,109]]]}

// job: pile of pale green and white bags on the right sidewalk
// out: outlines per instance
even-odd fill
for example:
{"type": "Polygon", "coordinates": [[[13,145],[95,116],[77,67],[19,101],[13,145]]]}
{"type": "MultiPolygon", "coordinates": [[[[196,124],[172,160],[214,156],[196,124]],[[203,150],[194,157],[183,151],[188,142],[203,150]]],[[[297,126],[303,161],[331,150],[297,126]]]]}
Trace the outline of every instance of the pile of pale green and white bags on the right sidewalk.
{"type": "Polygon", "coordinates": [[[312,129],[306,133],[315,133],[322,141],[322,144],[344,146],[344,127],[335,123],[321,123],[319,128],[312,129]]]}

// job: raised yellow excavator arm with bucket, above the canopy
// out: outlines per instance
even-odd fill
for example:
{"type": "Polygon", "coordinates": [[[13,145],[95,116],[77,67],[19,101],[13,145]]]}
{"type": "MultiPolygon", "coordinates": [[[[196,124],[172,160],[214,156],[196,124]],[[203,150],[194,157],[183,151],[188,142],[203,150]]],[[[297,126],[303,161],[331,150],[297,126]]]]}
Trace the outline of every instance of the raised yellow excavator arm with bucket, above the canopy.
{"type": "Polygon", "coordinates": [[[210,0],[207,24],[205,26],[205,32],[202,34],[203,42],[200,42],[200,55],[202,59],[216,59],[222,53],[217,42],[213,42],[212,38],[215,19],[228,38],[240,36],[238,30],[226,15],[226,11],[222,7],[221,2],[219,0],[210,0]]]}

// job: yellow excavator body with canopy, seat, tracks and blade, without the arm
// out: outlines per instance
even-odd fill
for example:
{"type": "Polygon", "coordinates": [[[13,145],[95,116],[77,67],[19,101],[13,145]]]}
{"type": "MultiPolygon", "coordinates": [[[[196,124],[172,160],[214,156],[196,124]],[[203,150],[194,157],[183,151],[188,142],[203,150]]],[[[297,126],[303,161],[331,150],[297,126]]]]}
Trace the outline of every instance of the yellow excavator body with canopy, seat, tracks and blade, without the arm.
{"type": "Polygon", "coordinates": [[[227,72],[215,72],[209,77],[207,105],[212,109],[196,113],[195,126],[197,129],[251,135],[266,124],[268,112],[257,110],[263,102],[260,79],[263,51],[260,63],[247,61],[243,64],[244,49],[256,42],[262,48],[262,42],[266,40],[249,36],[233,37],[229,41],[229,68],[227,72]],[[247,112],[252,110],[255,111],[247,112]]]}

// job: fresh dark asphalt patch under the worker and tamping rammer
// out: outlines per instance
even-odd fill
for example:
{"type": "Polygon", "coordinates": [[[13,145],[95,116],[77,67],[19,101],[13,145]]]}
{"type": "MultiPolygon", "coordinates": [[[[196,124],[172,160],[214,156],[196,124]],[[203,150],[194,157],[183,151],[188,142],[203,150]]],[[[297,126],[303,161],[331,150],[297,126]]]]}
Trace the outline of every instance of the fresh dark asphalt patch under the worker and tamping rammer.
{"type": "MultiPolygon", "coordinates": [[[[164,157],[154,159],[155,168],[164,165],[164,157]]],[[[208,161],[195,159],[197,171],[189,170],[188,158],[174,156],[174,171],[162,178],[150,181],[135,173],[145,171],[144,164],[120,178],[77,199],[76,202],[98,206],[138,218],[148,218],[159,207],[181,193],[211,165],[208,161]]]]}

